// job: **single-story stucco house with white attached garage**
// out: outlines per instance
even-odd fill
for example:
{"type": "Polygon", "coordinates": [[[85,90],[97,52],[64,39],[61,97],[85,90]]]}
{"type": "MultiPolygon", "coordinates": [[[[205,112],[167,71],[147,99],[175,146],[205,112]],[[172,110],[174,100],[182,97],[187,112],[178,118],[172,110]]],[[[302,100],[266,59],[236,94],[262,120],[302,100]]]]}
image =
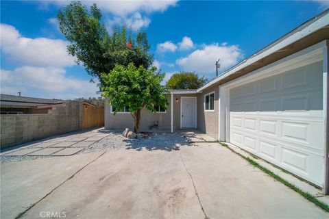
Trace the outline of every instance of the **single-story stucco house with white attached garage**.
{"type": "MultiPolygon", "coordinates": [[[[328,194],[329,10],[197,90],[171,90],[169,107],[143,110],[141,129],[198,129],[305,179],[328,194]]],[[[106,129],[133,127],[105,107],[106,129]]]]}

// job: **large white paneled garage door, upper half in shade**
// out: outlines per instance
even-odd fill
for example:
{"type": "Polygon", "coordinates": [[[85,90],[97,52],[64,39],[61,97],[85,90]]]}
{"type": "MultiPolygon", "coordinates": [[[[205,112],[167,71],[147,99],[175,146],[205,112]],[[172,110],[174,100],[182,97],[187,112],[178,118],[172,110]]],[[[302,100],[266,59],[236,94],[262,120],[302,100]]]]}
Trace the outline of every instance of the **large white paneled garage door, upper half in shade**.
{"type": "Polygon", "coordinates": [[[230,142],[323,183],[322,62],[230,90],[230,142]]]}

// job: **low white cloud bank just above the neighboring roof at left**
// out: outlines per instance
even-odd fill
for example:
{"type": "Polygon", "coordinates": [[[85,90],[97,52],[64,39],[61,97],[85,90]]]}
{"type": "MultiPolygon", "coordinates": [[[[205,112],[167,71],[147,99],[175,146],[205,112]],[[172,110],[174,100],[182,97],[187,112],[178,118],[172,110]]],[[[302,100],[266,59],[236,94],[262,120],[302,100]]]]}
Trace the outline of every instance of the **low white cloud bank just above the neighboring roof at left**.
{"type": "Polygon", "coordinates": [[[22,66],[14,70],[1,70],[1,93],[25,96],[38,93],[46,98],[73,99],[96,96],[97,83],[67,77],[65,70],[53,67],[22,66]]]}

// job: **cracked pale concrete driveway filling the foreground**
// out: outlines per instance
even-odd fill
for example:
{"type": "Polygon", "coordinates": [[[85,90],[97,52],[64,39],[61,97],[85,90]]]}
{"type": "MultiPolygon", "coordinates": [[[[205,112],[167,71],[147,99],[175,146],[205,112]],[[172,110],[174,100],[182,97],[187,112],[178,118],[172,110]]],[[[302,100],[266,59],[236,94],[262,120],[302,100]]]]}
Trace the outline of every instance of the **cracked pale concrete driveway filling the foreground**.
{"type": "Polygon", "coordinates": [[[1,218],[23,211],[21,218],[329,218],[229,149],[201,142],[1,164],[1,218]]]}

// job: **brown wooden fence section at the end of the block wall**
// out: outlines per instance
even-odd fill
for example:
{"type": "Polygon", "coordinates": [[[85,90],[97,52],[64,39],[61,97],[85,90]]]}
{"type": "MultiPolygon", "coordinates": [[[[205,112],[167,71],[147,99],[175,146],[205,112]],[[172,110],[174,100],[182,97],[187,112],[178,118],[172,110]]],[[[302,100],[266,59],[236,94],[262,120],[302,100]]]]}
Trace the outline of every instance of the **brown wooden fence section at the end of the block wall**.
{"type": "Polygon", "coordinates": [[[84,103],[83,109],[82,129],[104,125],[104,107],[96,107],[95,105],[84,103]]]}

